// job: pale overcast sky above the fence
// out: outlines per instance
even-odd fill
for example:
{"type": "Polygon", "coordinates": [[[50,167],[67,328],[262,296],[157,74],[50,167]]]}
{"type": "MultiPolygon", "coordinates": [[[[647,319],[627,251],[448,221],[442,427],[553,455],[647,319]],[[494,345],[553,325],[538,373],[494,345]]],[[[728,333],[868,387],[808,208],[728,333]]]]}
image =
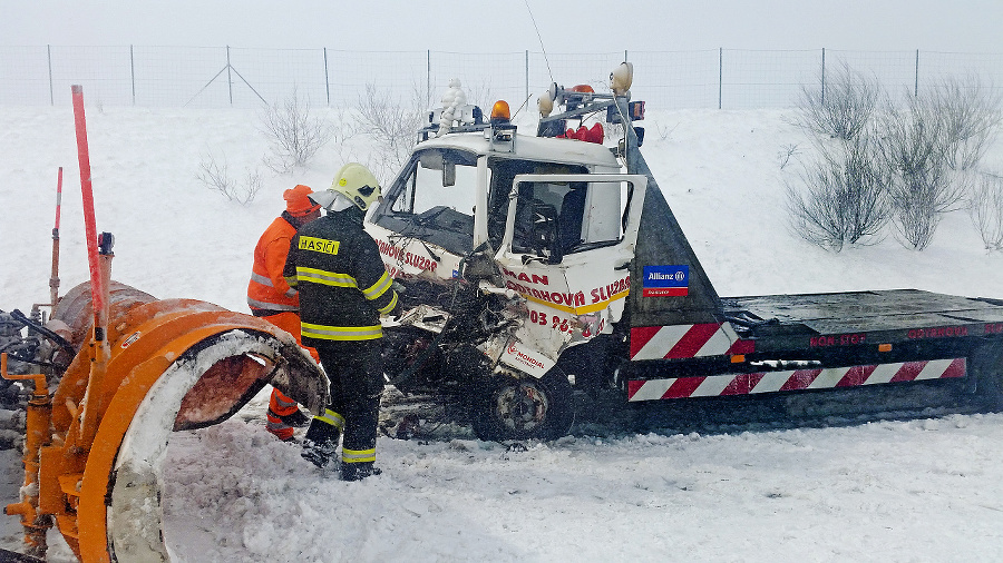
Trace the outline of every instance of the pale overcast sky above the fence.
{"type": "Polygon", "coordinates": [[[0,0],[0,45],[538,51],[530,10],[548,52],[1003,52],[1003,0],[0,0]]]}

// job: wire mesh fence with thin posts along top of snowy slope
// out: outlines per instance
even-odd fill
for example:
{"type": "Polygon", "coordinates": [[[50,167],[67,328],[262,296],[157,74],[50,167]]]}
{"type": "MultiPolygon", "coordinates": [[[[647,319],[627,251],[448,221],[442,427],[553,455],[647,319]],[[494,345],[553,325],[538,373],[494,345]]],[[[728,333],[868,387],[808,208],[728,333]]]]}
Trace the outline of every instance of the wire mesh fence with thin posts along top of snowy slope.
{"type": "MultiPolygon", "coordinates": [[[[459,78],[478,103],[514,107],[551,82],[605,87],[634,63],[635,99],[652,108],[789,107],[802,85],[835,65],[874,76],[893,93],[915,93],[945,76],[977,76],[1003,92],[1003,53],[741,50],[462,53],[234,47],[2,47],[0,105],[69,105],[70,85],[104,106],[254,107],[293,91],[313,105],[354,107],[367,86],[400,101],[435,100],[459,78]]],[[[598,90],[597,90],[598,91],[598,90]]]]}

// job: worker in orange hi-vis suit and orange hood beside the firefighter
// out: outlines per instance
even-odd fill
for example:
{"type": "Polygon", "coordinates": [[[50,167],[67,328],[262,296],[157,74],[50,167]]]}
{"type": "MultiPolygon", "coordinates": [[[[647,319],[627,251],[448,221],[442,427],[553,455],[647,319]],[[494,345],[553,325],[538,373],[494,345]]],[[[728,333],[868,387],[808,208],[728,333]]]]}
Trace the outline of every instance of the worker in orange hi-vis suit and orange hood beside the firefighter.
{"type": "MultiPolygon", "coordinates": [[[[262,317],[290,333],[300,342],[300,296],[282,276],[289,244],[296,229],[320,217],[320,206],[310,200],[313,190],[296,186],[283,194],[285,211],[265,229],[254,247],[254,266],[247,284],[247,305],[255,317],[262,317]]],[[[317,352],[310,350],[317,358],[317,352]]],[[[296,402],[279,389],[269,399],[266,428],[283,442],[293,437],[295,427],[305,426],[309,418],[296,402]]]]}

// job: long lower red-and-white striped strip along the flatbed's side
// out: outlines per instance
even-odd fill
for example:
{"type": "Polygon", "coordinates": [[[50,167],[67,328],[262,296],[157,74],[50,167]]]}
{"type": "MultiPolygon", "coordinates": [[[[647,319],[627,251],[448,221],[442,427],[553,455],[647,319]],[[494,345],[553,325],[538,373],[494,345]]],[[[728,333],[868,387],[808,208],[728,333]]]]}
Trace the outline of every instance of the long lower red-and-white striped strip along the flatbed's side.
{"type": "Polygon", "coordinates": [[[965,358],[627,382],[627,401],[750,395],[964,377],[965,358]]]}

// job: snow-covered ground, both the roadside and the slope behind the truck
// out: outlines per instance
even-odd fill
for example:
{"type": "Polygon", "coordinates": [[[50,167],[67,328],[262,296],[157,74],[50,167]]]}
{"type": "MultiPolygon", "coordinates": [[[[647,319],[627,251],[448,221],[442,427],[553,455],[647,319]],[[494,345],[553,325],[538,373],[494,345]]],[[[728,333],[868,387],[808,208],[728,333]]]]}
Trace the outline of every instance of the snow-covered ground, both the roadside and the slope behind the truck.
{"type": "MultiPolygon", "coordinates": [[[[332,112],[334,117],[334,112],[332,112]]],[[[1003,256],[964,213],[922,253],[894,236],[827,254],[790,233],[785,182],[810,155],[781,110],[658,112],[644,152],[718,292],[915,287],[1003,297],[1003,256]]],[[[245,310],[251,250],[295,184],[328,187],[361,137],[276,176],[253,112],[88,108],[98,229],[113,277],[157,297],[245,310]],[[263,189],[247,206],[196,179],[211,155],[263,189]]],[[[1003,146],[986,162],[1003,170],[1003,146]]],[[[64,290],[86,279],[70,108],[0,108],[0,309],[48,298],[58,167],[65,167],[64,290]]],[[[266,395],[218,426],[172,438],[167,543],[187,561],[1000,561],[1003,416],[769,424],[577,424],[525,447],[447,424],[428,439],[381,437],[383,474],[341,483],[264,431],[266,395]],[[684,428],[684,429],[683,429],[684,428]]],[[[729,403],[721,404],[728,407],[729,403]]],[[[676,419],[678,422],[678,419],[676,419]]],[[[0,452],[0,493],[20,463],[0,452]]],[[[8,517],[0,545],[19,549],[8,517]]],[[[70,559],[57,544],[50,561],[70,559]]]]}

